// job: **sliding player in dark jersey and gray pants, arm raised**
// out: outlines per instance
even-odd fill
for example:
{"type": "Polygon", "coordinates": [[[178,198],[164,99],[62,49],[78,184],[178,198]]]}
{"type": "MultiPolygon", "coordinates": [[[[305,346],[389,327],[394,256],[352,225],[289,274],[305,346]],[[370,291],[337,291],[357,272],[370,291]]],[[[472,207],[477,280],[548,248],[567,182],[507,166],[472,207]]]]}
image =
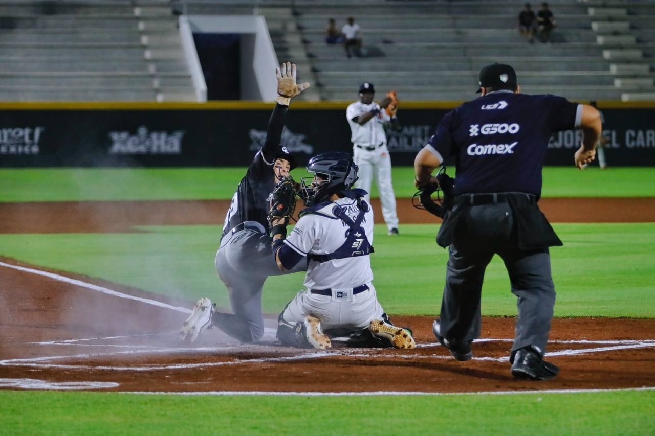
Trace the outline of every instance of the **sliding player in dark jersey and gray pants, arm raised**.
{"type": "Polygon", "coordinates": [[[284,119],[291,98],[309,88],[309,83],[296,84],[295,64],[282,64],[276,68],[276,76],[278,96],[265,143],[234,193],[215,258],[234,314],[215,312],[214,304],[206,297],[198,300],[181,329],[184,340],[194,342],[202,329],[212,325],[241,342],[259,340],[264,333],[261,292],[266,278],[307,270],[307,262],[303,261],[282,272],[271,259],[269,196],[276,183],[295,168],[293,156],[280,146],[284,119]]]}

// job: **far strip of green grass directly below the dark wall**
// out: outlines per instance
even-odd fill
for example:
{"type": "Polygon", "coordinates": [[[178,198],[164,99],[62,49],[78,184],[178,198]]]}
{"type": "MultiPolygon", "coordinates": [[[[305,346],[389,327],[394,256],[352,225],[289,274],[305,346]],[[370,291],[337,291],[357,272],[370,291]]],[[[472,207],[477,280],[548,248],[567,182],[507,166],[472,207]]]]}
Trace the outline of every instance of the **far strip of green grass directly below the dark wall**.
{"type": "MultiPolygon", "coordinates": [[[[0,170],[0,202],[213,200],[232,198],[245,168],[111,168],[0,170]]],[[[309,173],[291,172],[296,180],[309,173]]],[[[454,174],[453,174],[454,175],[454,174]]],[[[398,198],[410,198],[414,170],[392,169],[398,198]]],[[[655,168],[544,168],[544,197],[655,196],[655,168]]],[[[377,196],[375,186],[371,190],[377,196]]]]}

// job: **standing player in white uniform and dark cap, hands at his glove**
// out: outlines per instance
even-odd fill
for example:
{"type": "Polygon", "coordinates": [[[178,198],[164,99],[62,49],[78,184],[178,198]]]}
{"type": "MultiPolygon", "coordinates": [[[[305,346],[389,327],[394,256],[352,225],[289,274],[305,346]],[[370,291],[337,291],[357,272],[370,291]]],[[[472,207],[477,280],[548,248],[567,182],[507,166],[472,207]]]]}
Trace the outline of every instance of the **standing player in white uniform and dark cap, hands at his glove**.
{"type": "Polygon", "coordinates": [[[357,188],[367,192],[366,201],[371,201],[371,181],[375,174],[377,189],[380,192],[382,214],[388,234],[398,234],[398,215],[396,214],[396,196],[391,183],[391,158],[386,148],[384,123],[396,120],[384,111],[391,99],[385,97],[380,104],[373,101],[375,89],[373,84],[364,82],[360,85],[360,101],[348,105],[346,118],[350,124],[350,141],[353,159],[359,167],[360,179],[357,188]]]}

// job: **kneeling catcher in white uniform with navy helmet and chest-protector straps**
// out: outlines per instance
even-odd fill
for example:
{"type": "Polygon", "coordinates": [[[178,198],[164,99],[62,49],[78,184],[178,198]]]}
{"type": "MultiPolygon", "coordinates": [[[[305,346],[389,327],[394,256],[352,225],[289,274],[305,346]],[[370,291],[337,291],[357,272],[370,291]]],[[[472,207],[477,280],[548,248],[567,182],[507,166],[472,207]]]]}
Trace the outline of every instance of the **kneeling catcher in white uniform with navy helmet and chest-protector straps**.
{"type": "Polygon", "coordinates": [[[346,153],[309,160],[303,179],[307,208],[288,238],[284,219],[272,223],[280,270],[309,259],[305,286],[278,318],[278,339],[301,348],[330,348],[331,339],[362,346],[413,348],[411,331],[394,326],[373,287],[373,211],[366,192],[350,189],[357,166],[346,153]]]}

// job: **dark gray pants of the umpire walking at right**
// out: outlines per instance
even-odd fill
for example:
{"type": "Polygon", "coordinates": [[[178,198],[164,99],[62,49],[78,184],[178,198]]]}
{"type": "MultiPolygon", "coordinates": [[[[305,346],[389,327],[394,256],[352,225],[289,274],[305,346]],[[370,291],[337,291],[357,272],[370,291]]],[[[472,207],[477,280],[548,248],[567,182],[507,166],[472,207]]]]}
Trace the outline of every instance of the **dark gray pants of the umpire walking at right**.
{"type": "Polygon", "coordinates": [[[512,209],[507,203],[466,206],[462,211],[449,247],[441,335],[453,343],[479,338],[482,282],[494,254],[504,261],[512,293],[518,297],[512,355],[528,345],[537,346],[543,354],[555,306],[550,254],[548,248],[518,248],[512,209]]]}

